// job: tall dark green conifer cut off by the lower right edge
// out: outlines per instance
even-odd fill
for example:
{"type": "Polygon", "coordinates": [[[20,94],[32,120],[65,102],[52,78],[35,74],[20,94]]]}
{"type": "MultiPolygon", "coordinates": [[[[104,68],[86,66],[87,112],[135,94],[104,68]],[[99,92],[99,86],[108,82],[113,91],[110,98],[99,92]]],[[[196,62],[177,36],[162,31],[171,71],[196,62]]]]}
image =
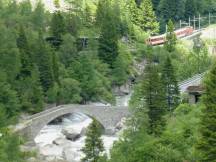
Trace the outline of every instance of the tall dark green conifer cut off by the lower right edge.
{"type": "Polygon", "coordinates": [[[202,110],[200,139],[197,150],[201,154],[199,161],[214,162],[216,159],[216,64],[207,74],[204,82],[205,93],[202,110]]]}

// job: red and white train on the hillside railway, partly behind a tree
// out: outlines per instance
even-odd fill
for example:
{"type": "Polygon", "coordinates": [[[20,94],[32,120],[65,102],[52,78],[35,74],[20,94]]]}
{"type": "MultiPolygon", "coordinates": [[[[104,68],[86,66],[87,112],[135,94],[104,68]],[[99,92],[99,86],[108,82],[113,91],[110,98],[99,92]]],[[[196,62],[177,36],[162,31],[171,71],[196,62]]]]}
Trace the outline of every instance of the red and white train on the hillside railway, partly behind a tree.
{"type": "MultiPolygon", "coordinates": [[[[185,28],[176,30],[175,34],[177,38],[183,38],[183,37],[193,34],[193,32],[194,32],[193,27],[185,27],[185,28]]],[[[166,34],[153,36],[147,40],[147,44],[152,45],[152,46],[161,45],[161,44],[164,44],[165,42],[166,42],[166,34]]]]}

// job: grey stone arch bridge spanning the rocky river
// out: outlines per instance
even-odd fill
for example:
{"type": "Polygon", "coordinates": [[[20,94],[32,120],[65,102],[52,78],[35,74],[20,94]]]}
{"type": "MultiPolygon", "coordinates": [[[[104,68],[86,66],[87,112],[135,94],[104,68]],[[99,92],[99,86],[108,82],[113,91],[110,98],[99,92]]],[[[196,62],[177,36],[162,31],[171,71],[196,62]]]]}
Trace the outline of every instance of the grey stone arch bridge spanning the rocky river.
{"type": "Polygon", "coordinates": [[[104,127],[106,134],[111,133],[111,130],[122,118],[130,115],[128,107],[124,106],[62,105],[30,116],[17,126],[15,131],[29,141],[34,141],[44,126],[54,119],[70,113],[83,113],[96,119],[104,127]]]}

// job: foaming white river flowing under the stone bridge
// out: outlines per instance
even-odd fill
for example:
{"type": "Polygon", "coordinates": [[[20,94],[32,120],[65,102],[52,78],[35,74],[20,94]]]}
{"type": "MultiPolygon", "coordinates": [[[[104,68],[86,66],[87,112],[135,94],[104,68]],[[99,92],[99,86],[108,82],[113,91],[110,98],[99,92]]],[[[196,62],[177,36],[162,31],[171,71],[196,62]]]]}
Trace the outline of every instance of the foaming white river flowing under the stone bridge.
{"type": "MultiPolygon", "coordinates": [[[[117,106],[128,106],[131,94],[116,97],[117,106]]],[[[101,105],[101,103],[93,103],[101,105]]],[[[75,141],[67,140],[62,130],[65,127],[72,127],[77,132],[82,132],[91,123],[92,119],[84,114],[69,114],[62,117],[60,122],[50,123],[45,126],[35,138],[35,143],[39,149],[40,156],[49,161],[65,160],[67,162],[80,162],[83,157],[81,151],[85,144],[85,135],[81,135],[75,141]]],[[[102,136],[107,154],[112,148],[113,142],[118,140],[118,133],[113,136],[102,136]]]]}

